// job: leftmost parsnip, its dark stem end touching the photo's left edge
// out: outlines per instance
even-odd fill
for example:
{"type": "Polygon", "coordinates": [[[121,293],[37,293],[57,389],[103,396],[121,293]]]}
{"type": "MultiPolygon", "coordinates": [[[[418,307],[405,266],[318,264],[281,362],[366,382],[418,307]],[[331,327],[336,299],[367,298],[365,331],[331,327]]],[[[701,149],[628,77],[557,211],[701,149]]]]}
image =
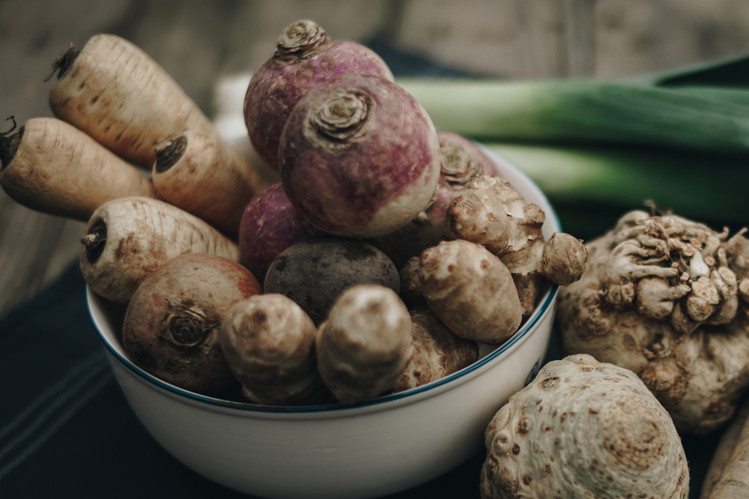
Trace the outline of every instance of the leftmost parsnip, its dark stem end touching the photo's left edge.
{"type": "Polygon", "coordinates": [[[154,197],[137,168],[64,121],[31,118],[12,132],[0,136],[0,185],[27,208],[85,221],[111,199],[154,197]]]}

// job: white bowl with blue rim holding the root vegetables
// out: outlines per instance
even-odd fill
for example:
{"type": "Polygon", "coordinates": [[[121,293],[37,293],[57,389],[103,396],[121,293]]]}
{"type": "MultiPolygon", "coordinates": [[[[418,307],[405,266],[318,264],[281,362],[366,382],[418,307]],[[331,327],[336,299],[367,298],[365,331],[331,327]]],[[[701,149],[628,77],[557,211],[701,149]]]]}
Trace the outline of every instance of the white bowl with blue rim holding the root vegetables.
{"type": "MultiPolygon", "coordinates": [[[[538,187],[496,159],[502,174],[546,212],[546,237],[558,232],[557,217],[538,187]]],[[[289,408],[206,397],[148,374],[120,345],[121,307],[90,290],[87,300],[122,391],[168,452],[245,493],[330,499],[403,491],[475,455],[491,417],[540,368],[556,296],[554,286],[510,340],[439,381],[355,406],[289,408]]]]}

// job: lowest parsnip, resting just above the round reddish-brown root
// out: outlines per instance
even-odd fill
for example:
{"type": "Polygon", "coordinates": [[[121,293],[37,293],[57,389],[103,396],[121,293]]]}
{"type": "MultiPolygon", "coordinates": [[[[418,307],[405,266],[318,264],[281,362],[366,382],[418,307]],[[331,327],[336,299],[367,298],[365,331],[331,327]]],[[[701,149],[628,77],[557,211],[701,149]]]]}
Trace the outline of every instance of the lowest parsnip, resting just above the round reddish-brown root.
{"type": "Polygon", "coordinates": [[[183,253],[238,261],[235,242],[203,220],[157,199],[124,197],[101,205],[81,239],[83,278],[98,295],[127,302],[143,279],[183,253]]]}

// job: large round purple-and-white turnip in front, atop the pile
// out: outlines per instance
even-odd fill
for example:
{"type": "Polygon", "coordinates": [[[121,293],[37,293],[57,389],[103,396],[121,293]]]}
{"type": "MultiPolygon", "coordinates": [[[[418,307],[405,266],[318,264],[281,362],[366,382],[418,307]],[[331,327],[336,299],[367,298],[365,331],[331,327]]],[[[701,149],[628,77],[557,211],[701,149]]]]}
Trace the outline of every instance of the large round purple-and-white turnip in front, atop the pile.
{"type": "Polygon", "coordinates": [[[286,122],[281,181],[294,207],[324,232],[376,237],[432,202],[439,139],[423,107],[379,76],[347,74],[311,89],[286,122]]]}

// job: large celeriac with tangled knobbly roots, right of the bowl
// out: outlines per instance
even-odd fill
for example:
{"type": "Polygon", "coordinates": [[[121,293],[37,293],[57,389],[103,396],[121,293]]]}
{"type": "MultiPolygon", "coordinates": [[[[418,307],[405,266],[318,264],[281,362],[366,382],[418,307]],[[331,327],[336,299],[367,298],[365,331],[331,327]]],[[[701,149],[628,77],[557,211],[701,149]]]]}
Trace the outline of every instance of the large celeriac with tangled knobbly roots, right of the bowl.
{"type": "Polygon", "coordinates": [[[672,214],[632,211],[587,244],[560,289],[569,353],[637,373],[683,432],[714,430],[749,386],[749,240],[672,214]]]}

